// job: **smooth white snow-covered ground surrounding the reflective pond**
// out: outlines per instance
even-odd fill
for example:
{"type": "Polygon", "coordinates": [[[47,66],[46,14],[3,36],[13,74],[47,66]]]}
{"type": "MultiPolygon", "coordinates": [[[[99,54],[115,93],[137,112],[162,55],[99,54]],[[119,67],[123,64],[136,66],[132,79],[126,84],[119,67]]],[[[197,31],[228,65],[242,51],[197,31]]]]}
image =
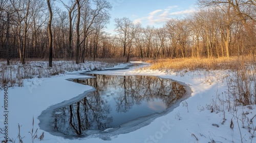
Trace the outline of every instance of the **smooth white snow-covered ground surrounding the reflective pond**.
{"type": "MultiPolygon", "coordinates": [[[[125,67],[119,65],[118,68],[125,67]]],[[[103,139],[98,135],[87,138],[68,139],[54,136],[39,128],[38,116],[52,105],[69,101],[90,86],[78,84],[66,79],[86,77],[79,74],[59,74],[48,78],[32,78],[24,80],[24,87],[10,87],[8,90],[8,107],[5,110],[5,90],[0,91],[0,128],[5,133],[8,123],[8,136],[19,142],[18,125],[23,142],[33,142],[33,134],[37,130],[39,137],[34,142],[255,142],[256,106],[234,107],[232,99],[227,96],[225,71],[203,70],[172,73],[169,71],[153,71],[150,69],[96,71],[108,75],[150,75],[173,79],[187,84],[192,92],[191,97],[182,101],[169,113],[155,118],[149,125],[134,128],[125,134],[109,134],[103,139]],[[230,101],[230,102],[227,102],[230,101]],[[230,108],[229,108],[230,106],[230,108]],[[230,109],[228,111],[228,109],[230,109]],[[5,112],[8,111],[8,112],[5,112]],[[8,113],[8,120],[5,116],[8,113]],[[33,123],[34,118],[34,124],[33,123]],[[232,123],[231,123],[232,121],[232,123]],[[253,125],[255,124],[255,125],[253,125]],[[231,126],[231,127],[230,127],[231,126]],[[136,130],[135,130],[136,129],[136,130]]],[[[0,133],[0,140],[5,135],[0,133]]]]}

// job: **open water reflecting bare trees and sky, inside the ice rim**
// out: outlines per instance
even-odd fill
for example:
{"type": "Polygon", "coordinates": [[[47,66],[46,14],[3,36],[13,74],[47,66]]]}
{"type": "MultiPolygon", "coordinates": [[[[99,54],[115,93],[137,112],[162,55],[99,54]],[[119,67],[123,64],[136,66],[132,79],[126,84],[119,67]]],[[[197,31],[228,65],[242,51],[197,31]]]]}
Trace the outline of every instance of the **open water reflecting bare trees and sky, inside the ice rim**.
{"type": "Polygon", "coordinates": [[[93,86],[96,91],[79,102],[56,109],[55,131],[85,135],[87,130],[117,127],[137,117],[164,111],[186,92],[178,82],[158,77],[91,76],[95,78],[74,81],[93,86]]]}

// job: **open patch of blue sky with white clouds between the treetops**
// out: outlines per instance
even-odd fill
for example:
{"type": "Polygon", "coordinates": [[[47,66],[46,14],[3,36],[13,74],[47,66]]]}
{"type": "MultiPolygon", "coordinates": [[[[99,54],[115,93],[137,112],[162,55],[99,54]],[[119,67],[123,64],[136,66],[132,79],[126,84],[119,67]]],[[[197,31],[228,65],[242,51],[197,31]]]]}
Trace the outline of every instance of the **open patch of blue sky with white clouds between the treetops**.
{"type": "Polygon", "coordinates": [[[113,9],[107,31],[113,33],[115,18],[128,17],[134,23],[162,27],[175,17],[184,17],[196,11],[197,0],[109,0],[113,9]]]}

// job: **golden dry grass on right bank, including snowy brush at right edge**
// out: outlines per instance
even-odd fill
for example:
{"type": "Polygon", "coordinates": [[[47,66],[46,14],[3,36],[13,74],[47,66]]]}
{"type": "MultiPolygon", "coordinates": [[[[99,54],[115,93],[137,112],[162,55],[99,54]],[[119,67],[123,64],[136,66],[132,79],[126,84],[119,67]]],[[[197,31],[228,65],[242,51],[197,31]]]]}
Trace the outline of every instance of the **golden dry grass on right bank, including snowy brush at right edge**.
{"type": "MultiPolygon", "coordinates": [[[[234,99],[234,103],[237,105],[256,104],[256,60],[253,56],[160,59],[147,62],[152,63],[147,68],[153,70],[173,70],[177,73],[182,73],[184,70],[226,70],[228,97],[234,99]]],[[[206,79],[209,79],[207,76],[205,74],[206,79]]]]}

